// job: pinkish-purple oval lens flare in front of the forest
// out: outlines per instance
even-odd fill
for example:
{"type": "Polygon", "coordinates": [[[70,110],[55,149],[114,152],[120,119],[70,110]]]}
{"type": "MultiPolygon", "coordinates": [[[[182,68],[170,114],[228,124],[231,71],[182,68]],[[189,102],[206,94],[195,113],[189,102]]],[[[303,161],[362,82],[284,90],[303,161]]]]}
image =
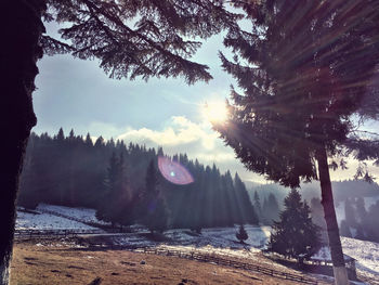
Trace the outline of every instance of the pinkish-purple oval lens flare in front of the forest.
{"type": "Polygon", "coordinates": [[[194,178],[184,166],[168,157],[158,157],[158,168],[164,178],[173,184],[186,185],[194,182],[194,178]]]}

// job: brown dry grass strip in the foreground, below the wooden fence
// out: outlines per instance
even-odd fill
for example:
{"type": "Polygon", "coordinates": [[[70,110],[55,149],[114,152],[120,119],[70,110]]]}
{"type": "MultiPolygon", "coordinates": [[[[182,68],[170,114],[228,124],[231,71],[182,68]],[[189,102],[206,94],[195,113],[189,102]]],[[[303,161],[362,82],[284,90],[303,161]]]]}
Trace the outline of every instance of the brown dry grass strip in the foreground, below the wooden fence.
{"type": "Polygon", "coordinates": [[[245,270],[202,263],[177,257],[126,250],[92,251],[68,246],[17,243],[11,285],[90,284],[96,277],[106,284],[270,284],[289,285],[280,278],[245,270]],[[146,263],[141,264],[144,260],[146,263]]]}

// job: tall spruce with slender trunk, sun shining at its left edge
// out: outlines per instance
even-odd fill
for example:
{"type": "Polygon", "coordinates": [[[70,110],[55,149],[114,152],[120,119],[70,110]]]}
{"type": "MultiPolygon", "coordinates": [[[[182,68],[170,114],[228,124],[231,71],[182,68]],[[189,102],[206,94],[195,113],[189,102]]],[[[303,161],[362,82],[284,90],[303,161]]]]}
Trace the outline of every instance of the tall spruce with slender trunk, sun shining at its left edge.
{"type": "Polygon", "coordinates": [[[319,180],[336,283],[347,284],[328,157],[379,158],[379,143],[358,137],[352,119],[378,115],[378,106],[373,114],[363,102],[378,103],[373,78],[378,76],[379,2],[243,0],[235,5],[252,26],[232,30],[224,40],[235,56],[228,61],[220,54],[222,64],[239,89],[232,89],[230,119],[214,128],[249,170],[290,187],[319,180]]]}

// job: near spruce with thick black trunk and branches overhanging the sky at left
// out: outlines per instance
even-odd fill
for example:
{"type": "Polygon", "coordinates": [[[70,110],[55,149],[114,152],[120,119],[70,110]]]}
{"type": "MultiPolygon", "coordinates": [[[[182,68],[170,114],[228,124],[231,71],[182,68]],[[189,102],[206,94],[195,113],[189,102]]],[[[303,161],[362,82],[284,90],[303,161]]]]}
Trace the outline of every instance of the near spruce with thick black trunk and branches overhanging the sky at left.
{"type": "Polygon", "coordinates": [[[1,159],[0,284],[8,284],[15,224],[15,199],[23,156],[37,118],[32,108],[37,61],[43,53],[99,59],[115,78],[178,77],[186,82],[211,79],[207,66],[188,59],[208,38],[235,25],[220,0],[102,1],[3,0],[0,27],[1,159]],[[44,35],[44,21],[63,25],[65,42],[44,35]],[[134,25],[135,24],[135,25],[134,25]],[[196,39],[195,39],[196,38],[196,39]],[[194,40],[195,39],[195,40],[194,40]]]}

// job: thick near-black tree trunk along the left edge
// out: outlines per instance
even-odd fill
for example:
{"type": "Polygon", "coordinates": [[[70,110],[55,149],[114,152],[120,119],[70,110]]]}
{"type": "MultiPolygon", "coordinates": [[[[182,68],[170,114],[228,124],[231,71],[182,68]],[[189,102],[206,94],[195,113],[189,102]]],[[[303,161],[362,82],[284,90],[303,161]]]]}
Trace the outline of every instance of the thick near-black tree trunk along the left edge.
{"type": "Polygon", "coordinates": [[[0,284],[9,283],[15,224],[15,204],[23,157],[36,125],[31,93],[42,55],[38,46],[44,29],[44,1],[2,0],[0,4],[0,284]]]}

